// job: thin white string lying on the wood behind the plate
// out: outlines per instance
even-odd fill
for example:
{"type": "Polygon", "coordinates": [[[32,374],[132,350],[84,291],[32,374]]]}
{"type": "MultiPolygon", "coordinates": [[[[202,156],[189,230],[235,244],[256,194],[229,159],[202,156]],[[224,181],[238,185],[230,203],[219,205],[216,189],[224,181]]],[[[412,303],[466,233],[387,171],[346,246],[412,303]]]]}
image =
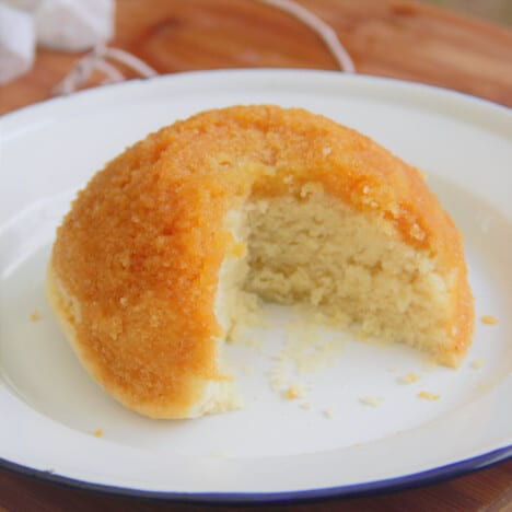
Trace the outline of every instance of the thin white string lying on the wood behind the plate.
{"type": "MultiPolygon", "coordinates": [[[[350,54],[339,40],[333,27],[311,12],[305,7],[293,0],[255,0],[269,7],[283,11],[311,28],[323,40],[341,71],[356,72],[356,66],[350,54]]],[[[120,82],[125,75],[108,60],[121,63],[142,78],[155,77],[159,73],[143,60],[120,48],[112,48],[97,45],[82,57],[71,68],[65,79],[53,89],[54,95],[70,94],[84,85],[94,71],[100,71],[105,77],[102,83],[120,82]]]]}

